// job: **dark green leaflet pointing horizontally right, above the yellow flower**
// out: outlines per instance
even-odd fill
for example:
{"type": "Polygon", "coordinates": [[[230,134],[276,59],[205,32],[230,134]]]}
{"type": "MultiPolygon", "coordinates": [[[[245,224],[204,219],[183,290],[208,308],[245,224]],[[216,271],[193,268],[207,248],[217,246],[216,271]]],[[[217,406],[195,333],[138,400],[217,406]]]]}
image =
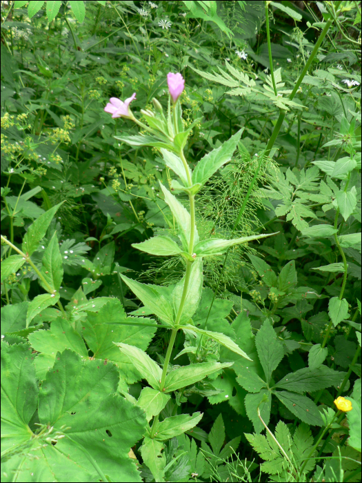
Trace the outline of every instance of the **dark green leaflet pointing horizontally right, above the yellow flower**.
{"type": "Polygon", "coordinates": [[[304,367],[298,371],[287,374],[277,382],[274,388],[287,389],[294,393],[314,393],[339,384],[345,373],[334,371],[328,366],[304,367]]]}

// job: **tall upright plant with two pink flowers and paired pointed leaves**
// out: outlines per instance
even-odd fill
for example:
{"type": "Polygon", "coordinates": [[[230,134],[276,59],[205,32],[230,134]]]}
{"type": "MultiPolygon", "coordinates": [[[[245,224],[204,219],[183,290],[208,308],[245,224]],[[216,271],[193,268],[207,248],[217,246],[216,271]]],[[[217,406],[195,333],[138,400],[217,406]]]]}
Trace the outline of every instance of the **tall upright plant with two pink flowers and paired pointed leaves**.
{"type": "Polygon", "coordinates": [[[159,413],[161,413],[165,404],[170,400],[171,393],[190,384],[194,384],[202,380],[206,375],[220,371],[222,368],[229,367],[233,364],[232,362],[223,364],[219,362],[200,362],[198,364],[191,364],[190,366],[181,366],[169,373],[168,366],[170,364],[172,348],[177,332],[182,330],[189,335],[209,337],[230,351],[239,354],[239,356],[251,360],[227,335],[204,330],[198,326],[194,326],[192,323],[192,316],[197,311],[203,287],[203,258],[210,257],[211,255],[221,255],[230,246],[268,236],[256,235],[231,240],[212,238],[201,241],[199,239],[195,222],[195,196],[201,186],[210,179],[214,172],[232,159],[234,150],[237,148],[237,143],[241,137],[242,129],[230,137],[222,146],[205,155],[198,161],[194,170],[192,170],[183,152],[190,129],[192,128],[190,126],[184,130],[181,119],[182,111],[179,97],[185,88],[185,80],[181,74],[174,74],[172,72],[168,74],[167,80],[170,92],[167,115],[164,114],[161,103],[157,99],[153,99],[154,112],[151,110],[141,110],[148,125],[143,124],[137,117],[130,113],[129,104],[135,98],[135,95],[124,102],[112,98],[105,108],[107,112],[112,113],[112,117],[132,119],[141,128],[148,131],[149,135],[130,137],[116,136],[116,139],[124,141],[130,146],[155,146],[159,148],[166,166],[173,170],[177,177],[179,177],[179,180],[172,181],[172,190],[175,193],[180,191],[187,193],[189,199],[188,209],[186,209],[177,197],[168,188],[163,186],[160,181],[165,202],[170,207],[172,215],[177,221],[179,242],[177,243],[174,239],[167,236],[157,236],[145,240],[145,242],[132,245],[134,248],[138,248],[151,255],[177,256],[183,258],[185,274],[174,287],[172,293],[166,295],[157,286],[141,284],[133,279],[123,275],[121,276],[123,282],[139,297],[145,308],[150,313],[157,315],[164,326],[170,328],[171,331],[170,342],[162,368],[146,353],[141,351],[141,349],[128,344],[117,344],[123,355],[130,359],[130,362],[137,368],[137,371],[148,381],[150,384],[150,388],[147,388],[148,395],[152,397],[152,400],[157,401],[157,404],[154,404],[151,409],[148,398],[143,400],[141,397],[137,403],[141,407],[144,404],[145,411],[148,414],[148,421],[150,422],[147,435],[141,447],[141,454],[156,481],[159,481],[161,473],[159,465],[154,461],[154,451],[152,450],[155,447],[154,445],[158,444],[157,447],[161,454],[163,446],[159,441],[180,434],[179,427],[181,426],[181,433],[187,431],[195,426],[202,417],[201,413],[194,413],[191,417],[188,415],[177,415],[159,422],[159,413]],[[179,424],[178,428],[176,422],[179,424]],[[168,428],[167,438],[162,436],[163,428],[166,427],[168,428]]]}

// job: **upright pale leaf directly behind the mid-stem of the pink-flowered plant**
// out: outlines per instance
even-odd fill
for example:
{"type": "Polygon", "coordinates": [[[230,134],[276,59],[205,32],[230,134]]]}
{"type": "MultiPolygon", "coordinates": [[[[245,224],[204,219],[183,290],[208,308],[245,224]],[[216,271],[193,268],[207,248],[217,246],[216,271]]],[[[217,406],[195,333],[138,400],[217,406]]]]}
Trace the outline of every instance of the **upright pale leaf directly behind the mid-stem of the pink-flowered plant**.
{"type": "Polygon", "coordinates": [[[202,259],[199,258],[196,259],[191,266],[186,297],[184,300],[182,313],[179,315],[179,319],[177,319],[177,316],[179,314],[179,308],[183,295],[183,287],[185,286],[185,275],[172,291],[172,307],[174,310],[175,322],[178,324],[185,324],[185,322],[188,322],[192,315],[194,315],[194,313],[197,311],[203,286],[202,265],[202,259]]]}

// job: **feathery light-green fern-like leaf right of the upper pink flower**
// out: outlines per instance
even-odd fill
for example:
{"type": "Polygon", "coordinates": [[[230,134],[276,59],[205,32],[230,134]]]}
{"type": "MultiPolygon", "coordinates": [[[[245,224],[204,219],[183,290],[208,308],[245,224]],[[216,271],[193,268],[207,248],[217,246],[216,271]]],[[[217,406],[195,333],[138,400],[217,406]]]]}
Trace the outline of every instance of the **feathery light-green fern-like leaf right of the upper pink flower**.
{"type": "MultiPolygon", "coordinates": [[[[266,97],[268,101],[271,101],[274,106],[280,109],[290,110],[290,107],[296,109],[303,108],[301,104],[288,99],[288,95],[290,92],[292,92],[292,90],[283,89],[285,83],[282,82],[281,79],[281,68],[274,71],[274,81],[276,84],[275,94],[271,75],[266,76],[265,83],[263,83],[263,86],[261,86],[260,83],[257,83],[254,79],[249,77],[248,74],[245,74],[245,72],[241,72],[240,70],[234,68],[230,63],[228,63],[228,61],[225,61],[225,66],[231,75],[228,74],[228,72],[225,72],[225,70],[222,70],[219,66],[217,68],[219,69],[220,74],[215,71],[213,71],[213,74],[210,74],[209,72],[203,72],[202,70],[195,68],[192,69],[201,75],[201,77],[204,77],[209,81],[231,87],[232,90],[228,90],[228,92],[226,92],[229,95],[248,96],[252,93],[259,95],[261,94],[264,98],[266,97]]],[[[255,78],[257,79],[257,75],[255,75],[255,78]]]]}

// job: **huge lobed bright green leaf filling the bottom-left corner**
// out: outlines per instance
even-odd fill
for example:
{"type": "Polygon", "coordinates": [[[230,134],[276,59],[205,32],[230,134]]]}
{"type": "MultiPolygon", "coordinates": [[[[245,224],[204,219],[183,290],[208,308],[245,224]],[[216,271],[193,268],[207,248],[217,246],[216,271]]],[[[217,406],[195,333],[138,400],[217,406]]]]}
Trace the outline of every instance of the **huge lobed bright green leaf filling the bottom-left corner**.
{"type": "Polygon", "coordinates": [[[128,452],[145,431],[145,414],[116,394],[118,369],[66,350],[39,390],[30,355],[25,344],[1,350],[3,480],[12,481],[16,472],[24,482],[30,473],[37,481],[107,481],[105,475],[141,481],[128,452]],[[36,408],[48,428],[38,436],[28,426],[36,408]]]}

